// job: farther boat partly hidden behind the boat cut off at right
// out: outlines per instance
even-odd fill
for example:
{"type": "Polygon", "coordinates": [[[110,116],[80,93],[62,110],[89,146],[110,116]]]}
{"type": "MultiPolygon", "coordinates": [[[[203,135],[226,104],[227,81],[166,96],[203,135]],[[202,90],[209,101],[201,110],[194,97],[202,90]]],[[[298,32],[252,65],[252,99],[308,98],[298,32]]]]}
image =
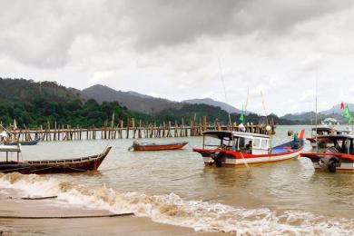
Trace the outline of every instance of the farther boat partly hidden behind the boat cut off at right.
{"type": "Polygon", "coordinates": [[[319,125],[318,127],[312,128],[311,137],[306,138],[310,141],[312,148],[327,148],[332,145],[331,139],[326,138],[327,135],[340,135],[349,134],[348,130],[335,129],[327,124],[319,125]]]}

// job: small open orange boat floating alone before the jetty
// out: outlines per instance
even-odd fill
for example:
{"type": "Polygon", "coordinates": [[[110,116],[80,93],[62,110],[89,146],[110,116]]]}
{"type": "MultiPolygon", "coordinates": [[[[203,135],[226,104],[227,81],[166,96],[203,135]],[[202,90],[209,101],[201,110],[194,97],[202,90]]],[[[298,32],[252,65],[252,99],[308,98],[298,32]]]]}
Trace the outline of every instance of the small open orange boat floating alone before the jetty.
{"type": "Polygon", "coordinates": [[[138,143],[133,142],[133,146],[129,150],[133,151],[162,151],[162,150],[176,150],[182,149],[187,142],[173,142],[173,143],[138,143]]]}

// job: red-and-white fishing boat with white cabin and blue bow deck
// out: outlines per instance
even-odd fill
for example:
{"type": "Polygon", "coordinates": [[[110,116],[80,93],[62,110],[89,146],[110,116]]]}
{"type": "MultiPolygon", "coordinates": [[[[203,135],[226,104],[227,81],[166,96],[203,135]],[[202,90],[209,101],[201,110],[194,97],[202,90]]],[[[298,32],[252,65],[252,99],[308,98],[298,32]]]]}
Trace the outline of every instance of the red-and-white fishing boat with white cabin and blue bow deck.
{"type": "Polygon", "coordinates": [[[276,147],[270,147],[270,136],[259,133],[234,131],[203,132],[202,149],[193,148],[193,152],[202,154],[206,165],[248,166],[286,161],[299,156],[303,149],[303,135],[276,147]]]}

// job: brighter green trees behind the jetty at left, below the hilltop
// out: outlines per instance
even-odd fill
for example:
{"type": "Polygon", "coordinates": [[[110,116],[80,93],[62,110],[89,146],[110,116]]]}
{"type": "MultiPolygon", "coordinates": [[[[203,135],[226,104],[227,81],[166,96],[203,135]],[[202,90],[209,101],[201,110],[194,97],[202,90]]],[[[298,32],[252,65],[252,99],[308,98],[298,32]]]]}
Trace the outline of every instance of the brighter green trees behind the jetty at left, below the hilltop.
{"type": "Polygon", "coordinates": [[[33,102],[0,101],[0,117],[6,125],[12,123],[14,118],[18,126],[38,127],[47,122],[89,127],[103,126],[104,120],[111,120],[113,111],[116,119],[127,121],[129,118],[142,119],[152,122],[152,117],[144,113],[134,113],[122,107],[119,103],[102,103],[94,100],[82,102],[75,99],[70,102],[57,103],[44,99],[35,99],[33,102]]]}

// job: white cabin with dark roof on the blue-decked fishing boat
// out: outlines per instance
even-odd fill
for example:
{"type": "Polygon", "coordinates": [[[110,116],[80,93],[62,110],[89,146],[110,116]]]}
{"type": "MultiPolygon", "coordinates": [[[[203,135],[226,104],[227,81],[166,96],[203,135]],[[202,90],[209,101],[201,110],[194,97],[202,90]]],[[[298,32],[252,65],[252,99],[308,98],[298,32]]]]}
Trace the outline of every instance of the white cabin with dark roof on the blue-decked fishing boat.
{"type": "Polygon", "coordinates": [[[223,149],[251,154],[270,153],[270,136],[233,131],[203,132],[203,149],[223,149]]]}

